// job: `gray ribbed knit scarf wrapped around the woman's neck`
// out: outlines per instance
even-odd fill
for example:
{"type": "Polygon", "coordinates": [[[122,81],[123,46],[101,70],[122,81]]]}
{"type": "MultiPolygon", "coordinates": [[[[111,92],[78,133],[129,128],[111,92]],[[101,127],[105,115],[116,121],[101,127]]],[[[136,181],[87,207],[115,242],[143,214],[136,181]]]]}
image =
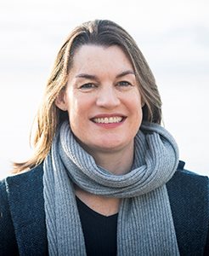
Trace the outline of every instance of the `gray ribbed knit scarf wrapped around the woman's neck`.
{"type": "Polygon", "coordinates": [[[73,183],[95,195],[121,198],[117,255],[179,255],[166,183],[178,147],[161,127],[146,123],[135,137],[133,170],[114,175],[97,166],[63,123],[44,161],[43,195],[49,255],[86,255],[73,183]]]}

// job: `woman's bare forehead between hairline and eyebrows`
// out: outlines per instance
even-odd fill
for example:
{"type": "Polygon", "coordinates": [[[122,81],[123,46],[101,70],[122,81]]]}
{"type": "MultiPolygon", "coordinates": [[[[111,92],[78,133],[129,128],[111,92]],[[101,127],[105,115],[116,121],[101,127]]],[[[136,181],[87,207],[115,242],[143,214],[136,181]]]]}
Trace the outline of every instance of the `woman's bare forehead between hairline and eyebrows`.
{"type": "Polygon", "coordinates": [[[82,45],[73,57],[71,73],[92,73],[93,71],[123,72],[133,65],[121,47],[100,45],[82,45]]]}

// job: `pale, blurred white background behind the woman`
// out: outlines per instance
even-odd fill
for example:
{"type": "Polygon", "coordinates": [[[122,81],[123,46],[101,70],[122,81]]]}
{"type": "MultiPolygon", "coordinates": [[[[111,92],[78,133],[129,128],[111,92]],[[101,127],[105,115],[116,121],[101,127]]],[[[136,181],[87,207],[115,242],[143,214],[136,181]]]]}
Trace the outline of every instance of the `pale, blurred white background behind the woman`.
{"type": "Polygon", "coordinates": [[[207,0],[0,0],[0,178],[31,155],[31,124],[54,57],[83,21],[114,20],[155,74],[186,169],[209,174],[207,0]]]}

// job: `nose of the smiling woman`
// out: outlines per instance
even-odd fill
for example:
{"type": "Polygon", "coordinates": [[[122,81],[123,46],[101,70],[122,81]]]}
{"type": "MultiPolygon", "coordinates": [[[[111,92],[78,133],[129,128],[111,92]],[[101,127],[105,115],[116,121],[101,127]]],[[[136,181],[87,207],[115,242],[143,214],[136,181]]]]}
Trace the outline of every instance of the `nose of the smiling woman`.
{"type": "Polygon", "coordinates": [[[96,103],[102,108],[116,108],[120,104],[116,88],[113,85],[103,86],[99,90],[96,103]]]}

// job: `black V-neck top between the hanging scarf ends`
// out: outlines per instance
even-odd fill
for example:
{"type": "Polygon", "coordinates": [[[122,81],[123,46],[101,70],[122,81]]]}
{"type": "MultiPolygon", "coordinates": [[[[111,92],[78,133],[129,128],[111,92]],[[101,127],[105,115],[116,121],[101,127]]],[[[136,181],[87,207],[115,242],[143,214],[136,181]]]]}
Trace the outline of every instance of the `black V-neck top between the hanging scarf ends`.
{"type": "Polygon", "coordinates": [[[88,256],[116,256],[118,214],[106,217],[94,212],[76,197],[88,256]]]}

